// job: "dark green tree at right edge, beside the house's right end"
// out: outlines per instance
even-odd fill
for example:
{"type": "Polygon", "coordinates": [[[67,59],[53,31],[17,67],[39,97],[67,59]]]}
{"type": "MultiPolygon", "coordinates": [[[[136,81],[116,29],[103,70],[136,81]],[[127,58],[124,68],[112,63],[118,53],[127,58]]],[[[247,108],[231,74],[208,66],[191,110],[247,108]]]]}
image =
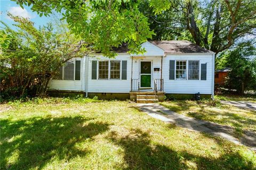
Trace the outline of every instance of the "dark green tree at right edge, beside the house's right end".
{"type": "Polygon", "coordinates": [[[236,48],[222,52],[217,58],[219,69],[230,68],[225,82],[230,89],[244,94],[256,90],[256,47],[251,42],[239,43],[236,48]]]}

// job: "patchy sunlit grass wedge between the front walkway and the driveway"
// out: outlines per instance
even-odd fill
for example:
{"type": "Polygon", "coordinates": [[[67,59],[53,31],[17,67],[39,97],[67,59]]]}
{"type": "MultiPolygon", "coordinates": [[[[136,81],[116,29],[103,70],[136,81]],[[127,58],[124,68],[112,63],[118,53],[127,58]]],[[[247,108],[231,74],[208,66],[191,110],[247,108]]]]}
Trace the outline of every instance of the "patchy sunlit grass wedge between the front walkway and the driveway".
{"type": "Polygon", "coordinates": [[[165,101],[161,104],[185,116],[234,127],[238,135],[243,130],[256,132],[256,111],[253,110],[221,104],[218,101],[212,103],[210,100],[165,101]]]}

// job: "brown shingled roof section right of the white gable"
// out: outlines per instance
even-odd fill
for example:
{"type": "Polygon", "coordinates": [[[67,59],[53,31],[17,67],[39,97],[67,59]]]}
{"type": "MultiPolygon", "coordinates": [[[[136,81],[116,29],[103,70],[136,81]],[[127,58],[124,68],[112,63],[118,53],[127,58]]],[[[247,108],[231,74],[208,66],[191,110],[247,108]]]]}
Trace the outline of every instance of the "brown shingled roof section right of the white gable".
{"type": "Polygon", "coordinates": [[[150,41],[165,53],[214,53],[189,41],[150,41]]]}

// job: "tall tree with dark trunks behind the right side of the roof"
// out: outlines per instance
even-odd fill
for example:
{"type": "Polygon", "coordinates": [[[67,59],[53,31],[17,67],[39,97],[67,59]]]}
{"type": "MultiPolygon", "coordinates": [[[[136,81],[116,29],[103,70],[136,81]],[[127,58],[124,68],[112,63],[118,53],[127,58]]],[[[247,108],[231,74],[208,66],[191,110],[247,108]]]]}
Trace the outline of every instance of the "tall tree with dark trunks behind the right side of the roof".
{"type": "Polygon", "coordinates": [[[246,35],[256,35],[256,1],[151,0],[142,2],[141,11],[150,27],[168,39],[193,39],[216,54],[246,35]],[[160,28],[160,29],[159,29],[160,28]],[[178,33],[177,33],[178,32],[178,33]],[[189,35],[188,35],[189,33],[189,35]]]}

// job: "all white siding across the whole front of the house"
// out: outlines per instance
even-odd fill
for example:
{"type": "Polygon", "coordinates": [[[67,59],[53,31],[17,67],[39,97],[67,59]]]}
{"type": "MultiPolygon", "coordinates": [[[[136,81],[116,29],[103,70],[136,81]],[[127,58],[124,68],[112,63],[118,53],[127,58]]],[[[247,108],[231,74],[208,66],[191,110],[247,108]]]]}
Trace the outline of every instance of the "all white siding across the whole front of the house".
{"type": "MultiPolygon", "coordinates": [[[[50,82],[51,90],[63,91],[87,91],[89,93],[129,93],[131,91],[131,78],[140,78],[140,61],[151,61],[151,87],[153,79],[161,78],[161,71],[154,71],[154,68],[161,68],[161,56],[133,56],[133,75],[131,76],[132,58],[130,54],[118,54],[115,59],[105,58],[102,55],[89,57],[88,65],[86,57],[81,59],[81,80],[52,80],[50,82]],[[92,79],[92,60],[126,60],[127,61],[127,79],[92,79]],[[88,80],[86,80],[88,76],[88,80]]],[[[163,79],[164,91],[174,94],[212,94],[213,89],[213,58],[212,54],[167,54],[163,57],[163,79]],[[169,62],[170,60],[199,60],[201,63],[207,63],[206,80],[169,80],[169,62]]],[[[98,75],[98,71],[97,71],[98,75]]],[[[122,75],[122,74],[121,74],[122,75]]],[[[201,72],[199,73],[201,75],[201,72]]]]}

